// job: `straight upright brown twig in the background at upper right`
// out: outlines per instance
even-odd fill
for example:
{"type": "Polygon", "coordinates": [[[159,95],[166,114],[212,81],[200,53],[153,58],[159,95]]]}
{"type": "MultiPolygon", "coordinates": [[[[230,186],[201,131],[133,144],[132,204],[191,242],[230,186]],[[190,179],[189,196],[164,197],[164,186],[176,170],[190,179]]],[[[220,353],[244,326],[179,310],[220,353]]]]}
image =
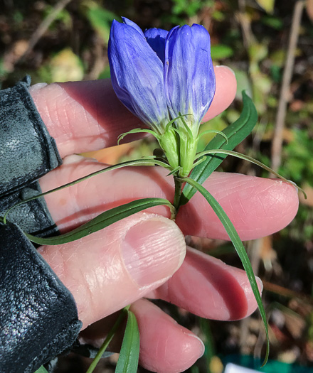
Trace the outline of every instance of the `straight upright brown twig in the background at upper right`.
{"type": "Polygon", "coordinates": [[[292,26],[290,31],[289,45],[284,73],[282,75],[282,87],[280,88],[280,100],[278,103],[274,138],[272,141],[272,169],[277,171],[282,160],[282,134],[285,126],[287,102],[290,94],[290,82],[295,65],[295,51],[299,37],[304,0],[298,0],[292,15],[292,26]]]}

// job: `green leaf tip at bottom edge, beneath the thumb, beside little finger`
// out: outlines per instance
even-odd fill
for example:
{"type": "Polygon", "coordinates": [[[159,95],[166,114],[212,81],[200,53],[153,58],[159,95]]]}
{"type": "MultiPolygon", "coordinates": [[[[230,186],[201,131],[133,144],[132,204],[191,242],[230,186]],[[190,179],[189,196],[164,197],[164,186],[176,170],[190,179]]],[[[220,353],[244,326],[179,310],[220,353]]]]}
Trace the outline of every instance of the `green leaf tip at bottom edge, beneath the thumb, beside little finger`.
{"type": "Polygon", "coordinates": [[[140,337],[136,316],[132,311],[128,311],[127,325],[115,373],[137,372],[139,347],[140,337]]]}

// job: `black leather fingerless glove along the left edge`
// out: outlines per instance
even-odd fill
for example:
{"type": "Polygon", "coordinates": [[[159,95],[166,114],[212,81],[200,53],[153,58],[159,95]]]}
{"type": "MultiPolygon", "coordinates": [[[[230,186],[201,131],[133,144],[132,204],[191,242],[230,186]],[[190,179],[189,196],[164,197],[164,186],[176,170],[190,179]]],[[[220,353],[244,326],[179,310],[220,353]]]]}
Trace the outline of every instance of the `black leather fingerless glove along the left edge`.
{"type": "MultiPolygon", "coordinates": [[[[26,77],[0,91],[0,215],[40,193],[36,180],[61,163],[30,83],[26,77]]],[[[0,224],[0,373],[33,373],[73,345],[81,322],[70,291],[20,229],[57,231],[43,198],[16,207],[8,220],[0,224]]]]}

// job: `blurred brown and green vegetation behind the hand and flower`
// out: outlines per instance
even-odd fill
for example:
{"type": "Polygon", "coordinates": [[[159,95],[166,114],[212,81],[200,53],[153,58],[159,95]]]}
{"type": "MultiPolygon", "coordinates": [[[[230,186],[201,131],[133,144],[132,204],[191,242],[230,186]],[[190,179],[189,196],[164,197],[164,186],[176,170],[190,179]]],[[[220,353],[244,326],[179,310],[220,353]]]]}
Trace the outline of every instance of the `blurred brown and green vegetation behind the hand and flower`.
{"type": "MultiPolygon", "coordinates": [[[[208,128],[223,129],[239,116],[241,90],[250,92],[259,124],[238,151],[278,168],[307,191],[292,224],[247,244],[255,273],[265,281],[271,359],[263,372],[313,372],[313,1],[292,0],[2,0],[1,87],[26,74],[33,83],[110,77],[107,40],[113,18],[142,28],[202,23],[212,39],[214,63],[238,80],[233,105],[208,128]],[[290,38],[291,37],[291,38],[290,38]],[[282,363],[281,363],[282,362],[282,363]]],[[[203,139],[203,142],[208,138],[203,139]]],[[[101,161],[147,155],[152,139],[98,152],[101,161]]],[[[227,159],[221,170],[267,176],[244,161],[227,159]]],[[[282,214],[284,212],[282,211],[282,214]]],[[[193,247],[240,265],[229,244],[189,237],[193,247]]],[[[221,373],[227,361],[253,367],[262,350],[255,313],[236,323],[201,320],[169,305],[165,310],[206,342],[192,373],[221,373]]],[[[85,372],[90,360],[69,355],[57,372],[85,372]]],[[[112,372],[115,356],[97,372],[112,372]]],[[[140,372],[144,372],[141,369],[140,372]]]]}

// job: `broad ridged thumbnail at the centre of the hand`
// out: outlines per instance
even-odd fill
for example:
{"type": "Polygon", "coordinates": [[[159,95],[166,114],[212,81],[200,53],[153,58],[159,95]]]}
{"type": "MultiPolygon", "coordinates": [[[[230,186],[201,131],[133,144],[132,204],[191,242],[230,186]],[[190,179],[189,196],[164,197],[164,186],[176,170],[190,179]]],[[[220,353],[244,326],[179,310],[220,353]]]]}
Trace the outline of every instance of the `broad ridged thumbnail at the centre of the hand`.
{"type": "Polygon", "coordinates": [[[129,229],[122,243],[125,267],[140,286],[169,278],[186,255],[184,235],[171,220],[153,217],[129,229]]]}

